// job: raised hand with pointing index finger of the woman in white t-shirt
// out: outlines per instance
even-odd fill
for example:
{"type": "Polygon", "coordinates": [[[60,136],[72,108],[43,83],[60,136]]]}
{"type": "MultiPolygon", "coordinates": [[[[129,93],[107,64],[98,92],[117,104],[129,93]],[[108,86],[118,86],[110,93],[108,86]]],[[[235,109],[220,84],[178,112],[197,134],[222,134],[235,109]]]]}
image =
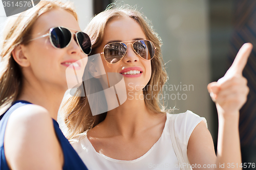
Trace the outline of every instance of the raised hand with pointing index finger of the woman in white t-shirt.
{"type": "Polygon", "coordinates": [[[249,88],[242,72],[251,53],[252,44],[245,43],[239,50],[231,67],[223,78],[208,84],[211,99],[216,103],[218,113],[225,115],[239,113],[247,100],[249,88]]]}

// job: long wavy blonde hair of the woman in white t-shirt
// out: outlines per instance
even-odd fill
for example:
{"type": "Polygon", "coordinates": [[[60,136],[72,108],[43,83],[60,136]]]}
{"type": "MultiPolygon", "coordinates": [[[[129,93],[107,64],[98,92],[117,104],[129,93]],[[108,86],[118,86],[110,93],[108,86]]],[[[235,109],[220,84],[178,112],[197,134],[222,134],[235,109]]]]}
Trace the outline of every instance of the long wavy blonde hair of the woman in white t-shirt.
{"type": "MultiPolygon", "coordinates": [[[[148,110],[155,113],[163,113],[164,109],[160,108],[158,93],[162,89],[162,86],[166,82],[167,74],[163,67],[163,60],[161,55],[161,39],[157,33],[154,32],[152,23],[146,19],[140,12],[125,5],[122,7],[116,7],[114,4],[109,6],[105,11],[94,16],[90,21],[86,32],[92,41],[91,55],[96,54],[95,50],[102,43],[104,36],[104,30],[110,20],[117,17],[129,16],[136,20],[142,28],[146,38],[151,40],[156,47],[155,57],[151,61],[152,75],[150,81],[143,89],[144,96],[150,96],[150,99],[144,98],[145,105],[148,110]],[[155,86],[154,86],[155,85],[155,86]],[[152,87],[157,87],[152,89],[152,87]],[[153,97],[156,96],[156,97],[153,97]]],[[[77,89],[77,93],[81,92],[82,88],[77,89]]],[[[163,105],[161,105],[163,106],[163,105]]],[[[106,113],[93,116],[87,96],[78,97],[71,96],[62,105],[62,114],[65,119],[65,123],[68,127],[66,137],[71,139],[79,133],[82,133],[88,129],[91,129],[104,120],[106,113]]]]}

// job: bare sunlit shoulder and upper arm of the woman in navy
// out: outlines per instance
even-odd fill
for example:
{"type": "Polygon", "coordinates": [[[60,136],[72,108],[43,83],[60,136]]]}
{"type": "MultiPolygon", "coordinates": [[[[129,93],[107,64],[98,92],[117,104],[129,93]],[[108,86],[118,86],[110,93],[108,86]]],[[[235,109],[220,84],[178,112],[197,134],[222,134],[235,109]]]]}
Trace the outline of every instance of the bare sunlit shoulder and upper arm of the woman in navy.
{"type": "Polygon", "coordinates": [[[13,111],[8,119],[4,142],[7,163],[11,168],[61,168],[62,151],[53,120],[41,106],[29,104],[13,111]]]}

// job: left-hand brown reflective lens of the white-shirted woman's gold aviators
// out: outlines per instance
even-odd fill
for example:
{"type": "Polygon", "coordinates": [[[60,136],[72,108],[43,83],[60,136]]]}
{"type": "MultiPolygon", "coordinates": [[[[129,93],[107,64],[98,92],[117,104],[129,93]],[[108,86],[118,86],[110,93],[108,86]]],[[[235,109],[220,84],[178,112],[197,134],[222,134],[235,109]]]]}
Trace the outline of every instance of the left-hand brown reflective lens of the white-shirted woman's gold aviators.
{"type": "Polygon", "coordinates": [[[104,47],[105,60],[112,64],[118,62],[125,55],[126,49],[126,44],[122,42],[107,44],[104,47]]]}

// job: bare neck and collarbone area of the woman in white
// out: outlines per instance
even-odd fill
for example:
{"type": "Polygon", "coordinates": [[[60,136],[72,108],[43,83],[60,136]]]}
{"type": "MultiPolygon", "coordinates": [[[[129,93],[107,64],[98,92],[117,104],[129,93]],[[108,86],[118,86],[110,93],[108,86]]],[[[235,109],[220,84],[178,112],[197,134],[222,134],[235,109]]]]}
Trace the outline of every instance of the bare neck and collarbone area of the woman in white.
{"type": "Polygon", "coordinates": [[[121,106],[108,111],[102,125],[115,134],[125,136],[132,136],[153,125],[158,116],[147,109],[144,99],[138,98],[139,93],[134,93],[134,98],[131,98],[131,95],[130,98],[127,96],[127,100],[121,106]]]}

